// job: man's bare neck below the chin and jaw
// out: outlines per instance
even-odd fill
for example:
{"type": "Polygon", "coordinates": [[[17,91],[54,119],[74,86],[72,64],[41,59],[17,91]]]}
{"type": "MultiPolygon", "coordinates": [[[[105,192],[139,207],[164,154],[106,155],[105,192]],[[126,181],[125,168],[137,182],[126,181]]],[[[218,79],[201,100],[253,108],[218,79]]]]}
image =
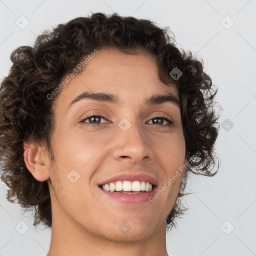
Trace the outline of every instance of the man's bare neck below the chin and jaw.
{"type": "Polygon", "coordinates": [[[118,240],[116,236],[112,234],[106,238],[103,234],[92,233],[70,218],[63,220],[59,215],[57,218],[53,216],[47,256],[112,256],[120,255],[120,252],[122,256],[168,256],[165,223],[147,238],[140,239],[129,234],[131,239],[118,240]]]}

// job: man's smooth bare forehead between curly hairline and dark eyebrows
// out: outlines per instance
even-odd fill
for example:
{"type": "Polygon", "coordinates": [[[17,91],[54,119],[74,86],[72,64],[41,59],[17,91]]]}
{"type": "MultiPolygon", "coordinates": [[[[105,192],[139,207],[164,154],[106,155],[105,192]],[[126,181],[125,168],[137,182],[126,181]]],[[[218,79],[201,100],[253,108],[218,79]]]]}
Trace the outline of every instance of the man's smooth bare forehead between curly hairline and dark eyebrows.
{"type": "Polygon", "coordinates": [[[141,105],[152,94],[172,93],[178,98],[176,85],[159,81],[156,56],[141,50],[137,54],[118,49],[99,50],[83,71],[62,88],[56,105],[67,108],[85,91],[114,94],[119,98],[118,105],[126,106],[134,105],[134,102],[141,105]]]}

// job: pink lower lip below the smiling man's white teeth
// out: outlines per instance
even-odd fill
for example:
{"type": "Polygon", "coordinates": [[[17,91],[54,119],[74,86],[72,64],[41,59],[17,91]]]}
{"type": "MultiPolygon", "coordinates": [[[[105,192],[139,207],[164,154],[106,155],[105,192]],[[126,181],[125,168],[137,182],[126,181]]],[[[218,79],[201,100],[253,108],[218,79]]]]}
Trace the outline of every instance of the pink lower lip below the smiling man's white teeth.
{"type": "MultiPolygon", "coordinates": [[[[110,192],[98,187],[104,194],[111,197],[112,199],[128,204],[140,204],[149,201],[149,197],[153,196],[156,191],[155,186],[150,192],[141,193],[121,193],[121,192],[110,192]]],[[[128,192],[128,191],[127,191],[128,192]]]]}

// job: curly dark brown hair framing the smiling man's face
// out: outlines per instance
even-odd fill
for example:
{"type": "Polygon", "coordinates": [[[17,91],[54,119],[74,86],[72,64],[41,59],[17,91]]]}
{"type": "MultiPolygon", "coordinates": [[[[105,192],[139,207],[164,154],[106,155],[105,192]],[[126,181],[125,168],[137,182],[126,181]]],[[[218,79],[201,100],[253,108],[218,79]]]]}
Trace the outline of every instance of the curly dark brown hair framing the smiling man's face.
{"type": "MultiPolygon", "coordinates": [[[[47,181],[36,180],[26,168],[23,142],[45,144],[54,161],[50,145],[54,128],[52,105],[60,93],[51,100],[47,95],[95,48],[114,47],[131,54],[144,49],[155,55],[159,79],[167,85],[175,83],[179,91],[186,157],[190,160],[187,171],[205,176],[217,172],[217,89],[203,71],[203,61],[192,56],[191,51],[179,50],[174,35],[171,37],[168,32],[169,27],[160,28],[151,20],[97,12],[58,24],[52,31],[44,30],[33,47],[20,46],[12,51],[13,64],[0,87],[1,180],[9,188],[10,202],[17,199],[24,211],[34,208],[34,226],[42,222],[51,227],[51,201],[47,181]],[[177,80],[169,74],[174,67],[182,72],[177,80]]],[[[177,200],[166,219],[169,229],[175,226],[175,217],[187,210],[180,201],[185,195],[186,180],[182,179],[177,200]]]]}

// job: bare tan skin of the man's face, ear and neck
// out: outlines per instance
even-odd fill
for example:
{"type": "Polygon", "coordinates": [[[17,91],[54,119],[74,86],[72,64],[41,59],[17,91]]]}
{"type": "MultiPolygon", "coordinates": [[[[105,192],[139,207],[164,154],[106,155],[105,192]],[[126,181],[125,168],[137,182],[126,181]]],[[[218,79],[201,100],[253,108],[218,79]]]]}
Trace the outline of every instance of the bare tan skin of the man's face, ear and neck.
{"type": "Polygon", "coordinates": [[[143,104],[146,97],[166,92],[178,99],[176,85],[159,81],[154,55],[109,48],[99,50],[59,92],[51,136],[55,164],[51,166],[44,146],[24,143],[28,170],[49,185],[52,235],[47,255],[112,256],[120,251],[122,256],[168,255],[165,219],[186,170],[154,202],[124,204],[97,186],[121,172],[143,172],[154,176],[161,187],[186,162],[179,107],[172,102],[143,104]],[[82,99],[67,111],[77,95],[90,90],[115,94],[121,104],[82,99]],[[98,126],[80,123],[92,112],[103,118],[85,122],[100,122],[98,126]],[[161,114],[173,124],[161,118],[160,124],[154,122],[152,118],[161,114]],[[123,118],[131,124],[125,132],[117,125],[123,118]],[[67,178],[72,169],[80,175],[74,183],[67,178]],[[118,228],[123,221],[130,226],[125,234],[118,228]]]}

